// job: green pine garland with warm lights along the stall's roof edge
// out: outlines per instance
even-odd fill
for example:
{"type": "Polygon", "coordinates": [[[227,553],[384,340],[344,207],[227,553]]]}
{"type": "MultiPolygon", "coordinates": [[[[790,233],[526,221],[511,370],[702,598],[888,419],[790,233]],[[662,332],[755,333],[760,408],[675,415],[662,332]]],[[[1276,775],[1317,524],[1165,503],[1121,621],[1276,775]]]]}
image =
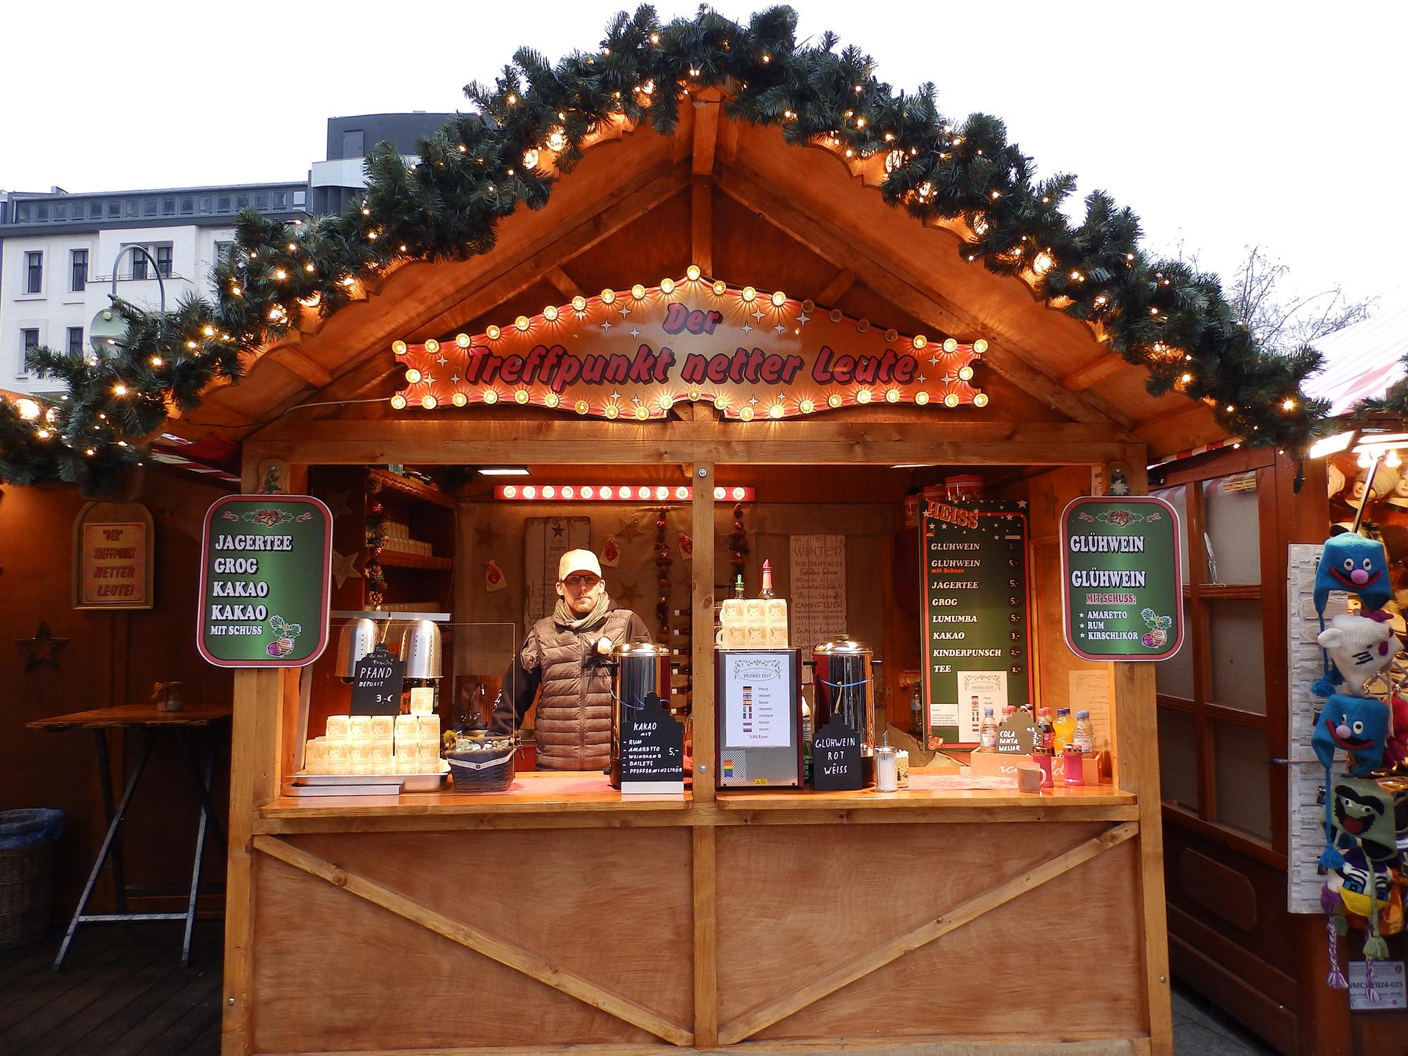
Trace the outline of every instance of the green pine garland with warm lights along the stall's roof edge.
{"type": "Polygon", "coordinates": [[[960,246],[969,260],[1038,275],[1042,297],[1062,298],[1067,314],[1098,324],[1108,348],[1148,369],[1150,393],[1177,389],[1211,403],[1218,424],[1253,446],[1308,446],[1326,411],[1300,393],[1321,363],[1314,349],[1260,348],[1217,277],[1148,258],[1138,217],[1104,191],[1086,197],[1081,222],[1067,221],[1060,206],[1074,179],[1038,180],[1000,120],[950,124],[934,84],[895,92],[860,49],[838,51],[834,34],[798,45],[796,28],[790,7],[742,25],[708,8],[662,24],[642,6],[617,14],[593,54],[552,65],[520,49],[493,84],[465,87],[479,113],[422,139],[420,162],[407,166],[394,145],[379,144],[363,197],[341,215],[238,214],[235,241],[214,269],[214,303],[191,297],[162,318],[118,301],[127,332],[97,363],[34,349],[30,369],[68,394],[32,420],[0,400],[0,480],[101,491],[141,465],[173,410],[199,407],[215,380],[238,382],[248,358],[306,315],[349,303],[359,280],[406,260],[490,252],[503,217],[548,201],[553,180],[536,165],[542,151],[570,172],[583,139],[622,115],[669,135],[690,93],[707,87],[729,96],[731,117],[780,127],[788,144],[883,155],[886,201],[921,220],[966,221],[976,232],[960,246]]]}

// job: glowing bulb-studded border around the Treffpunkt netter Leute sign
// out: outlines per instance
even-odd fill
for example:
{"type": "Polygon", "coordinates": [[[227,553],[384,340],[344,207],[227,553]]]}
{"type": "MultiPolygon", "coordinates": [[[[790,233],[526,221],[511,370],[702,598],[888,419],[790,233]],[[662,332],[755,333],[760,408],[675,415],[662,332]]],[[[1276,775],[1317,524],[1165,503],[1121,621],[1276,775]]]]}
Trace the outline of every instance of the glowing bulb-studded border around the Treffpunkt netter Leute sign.
{"type": "MultiPolygon", "coordinates": [[[[973,384],[974,366],[987,351],[987,341],[959,342],[955,338],[929,341],[924,335],[903,337],[895,329],[884,331],[886,346],[897,356],[912,355],[925,372],[919,383],[839,383],[818,384],[808,379],[788,389],[777,389],[759,398],[756,394],[742,398],[724,387],[701,383],[684,386],[677,382],[663,382],[642,396],[627,398],[612,390],[611,396],[590,400],[577,394],[559,394],[542,382],[518,384],[494,380],[487,384],[472,384],[460,370],[477,351],[493,353],[496,345],[507,337],[527,334],[538,337],[546,346],[548,341],[563,332],[566,324],[603,325],[622,307],[659,307],[662,298],[670,298],[681,287],[707,294],[718,304],[722,315],[759,317],[758,329],[766,327],[787,328],[791,324],[805,325],[811,321],[826,321],[831,325],[849,325],[865,334],[873,328],[867,320],[852,320],[839,308],[819,308],[807,300],[794,300],[781,290],[766,291],[753,286],[729,286],[722,280],[705,277],[697,265],[690,265],[680,279],[666,277],[656,286],[635,283],[622,290],[605,289],[594,297],[577,294],[569,303],[546,306],[536,315],[518,315],[504,325],[489,325],[482,334],[458,334],[452,341],[428,339],[421,344],[407,341],[391,342],[391,352],[404,370],[404,384],[391,397],[393,410],[436,410],[441,407],[518,406],[543,407],[579,417],[597,417],[610,421],[645,422],[663,420],[679,403],[708,401],[722,413],[724,418],[735,421],[777,421],[783,418],[807,417],[828,410],[865,407],[872,404],[912,404],[918,407],[983,408],[988,404],[987,393],[973,384]]],[[[696,313],[698,314],[698,313],[696,313]]],[[[793,332],[800,329],[793,327],[793,332]]],[[[717,384],[717,383],[715,383],[717,384]]],[[[635,387],[621,383],[622,387],[635,387]]],[[[603,386],[605,387],[605,386],[603,386]]]]}

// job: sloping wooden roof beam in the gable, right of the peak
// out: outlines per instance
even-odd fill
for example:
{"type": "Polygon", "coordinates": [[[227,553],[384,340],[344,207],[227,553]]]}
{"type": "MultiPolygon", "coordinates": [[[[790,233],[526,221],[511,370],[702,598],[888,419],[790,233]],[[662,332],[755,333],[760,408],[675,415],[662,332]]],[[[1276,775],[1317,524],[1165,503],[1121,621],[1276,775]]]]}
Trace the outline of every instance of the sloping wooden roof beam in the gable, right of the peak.
{"type": "Polygon", "coordinates": [[[905,270],[904,265],[893,259],[872,253],[859,239],[848,238],[845,230],[819,222],[818,217],[780,196],[756,173],[731,166],[719,173],[718,184],[725,194],[760,214],[835,266],[863,273],[865,284],[897,308],[955,337],[970,339],[986,337],[988,349],[983,362],[1028,394],[1076,421],[1115,421],[1126,429],[1132,427],[1133,422],[1124,414],[1095,407],[1088,398],[1071,393],[1059,380],[1032,366],[1038,359],[1036,349],[1010,334],[995,332],[991,322],[984,322],[949,301],[939,290],[932,289],[924,276],[905,270]]]}

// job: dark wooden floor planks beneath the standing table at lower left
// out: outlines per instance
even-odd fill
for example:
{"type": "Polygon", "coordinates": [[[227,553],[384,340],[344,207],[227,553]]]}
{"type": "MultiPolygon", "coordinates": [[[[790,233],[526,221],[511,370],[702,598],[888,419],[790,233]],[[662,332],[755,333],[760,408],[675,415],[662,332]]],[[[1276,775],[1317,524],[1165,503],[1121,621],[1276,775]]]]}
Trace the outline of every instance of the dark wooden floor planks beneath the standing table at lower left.
{"type": "Polygon", "coordinates": [[[0,1052],[217,1056],[222,922],[196,925],[187,969],[180,928],[87,926],[58,974],[59,934],[0,950],[0,1052]]]}

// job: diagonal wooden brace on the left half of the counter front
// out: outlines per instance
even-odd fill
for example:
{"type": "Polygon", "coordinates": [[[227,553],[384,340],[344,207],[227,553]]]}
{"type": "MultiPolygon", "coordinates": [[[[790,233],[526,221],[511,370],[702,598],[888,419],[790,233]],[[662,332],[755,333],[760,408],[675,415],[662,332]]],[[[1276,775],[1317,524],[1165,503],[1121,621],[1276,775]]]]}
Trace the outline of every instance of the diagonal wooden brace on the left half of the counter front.
{"type": "Polygon", "coordinates": [[[600,1008],[603,1012],[608,1012],[622,1022],[638,1026],[642,1031],[649,1031],[656,1038],[663,1038],[672,1045],[690,1045],[694,1041],[691,1031],[652,1012],[645,1005],[614,994],[573,972],[558,967],[552,962],[543,960],[521,946],[496,939],[477,928],[435,912],[414,898],[408,898],[400,891],[369,880],[360,873],[342,869],[325,857],[320,857],[276,836],[255,836],[253,845],[255,849],[294,869],[301,869],[308,876],[327,880],[348,894],[363,898],[373,905],[380,905],[383,910],[394,912],[411,924],[418,924],[451,942],[472,949],[491,960],[497,960],[500,964],[521,972],[529,979],[536,979],[539,983],[574,997],[593,1008],[600,1008]]]}

